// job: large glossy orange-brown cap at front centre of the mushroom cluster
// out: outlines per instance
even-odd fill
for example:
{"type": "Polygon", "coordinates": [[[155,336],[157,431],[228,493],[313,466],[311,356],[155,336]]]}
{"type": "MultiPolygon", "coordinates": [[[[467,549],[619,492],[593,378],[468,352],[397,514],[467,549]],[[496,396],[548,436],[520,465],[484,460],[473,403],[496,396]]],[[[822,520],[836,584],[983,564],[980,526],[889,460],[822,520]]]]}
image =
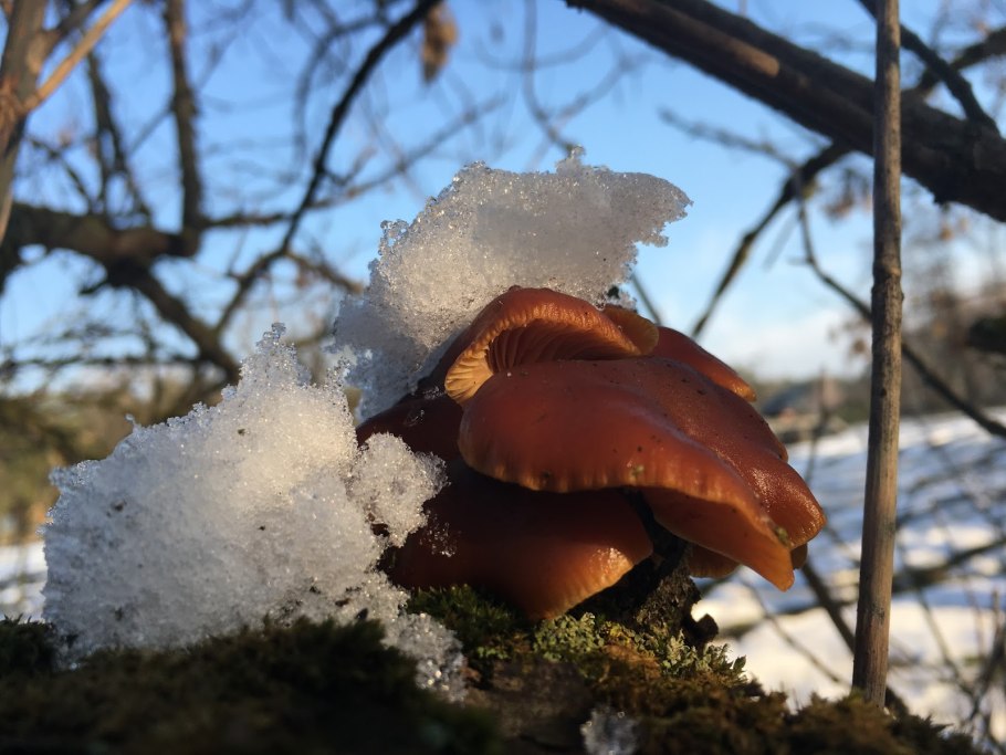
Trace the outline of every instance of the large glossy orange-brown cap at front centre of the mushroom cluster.
{"type": "Polygon", "coordinates": [[[790,549],[824,524],[757,412],[671,359],[493,375],[465,406],[458,444],[473,469],[533,490],[641,487],[668,529],[782,589],[793,581],[790,549]]]}

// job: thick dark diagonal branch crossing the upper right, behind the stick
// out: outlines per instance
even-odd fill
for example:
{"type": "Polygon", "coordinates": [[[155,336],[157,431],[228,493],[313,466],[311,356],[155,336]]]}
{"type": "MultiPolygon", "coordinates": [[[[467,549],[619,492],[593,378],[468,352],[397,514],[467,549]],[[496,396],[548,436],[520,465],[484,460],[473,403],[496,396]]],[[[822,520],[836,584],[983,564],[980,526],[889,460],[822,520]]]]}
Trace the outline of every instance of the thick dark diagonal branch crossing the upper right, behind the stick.
{"type": "MultiPolygon", "coordinates": [[[[873,154],[872,82],[705,0],[567,0],[774,107],[873,154]]],[[[904,172],[937,202],[1006,220],[1006,140],[916,98],[902,103],[904,172]]]]}

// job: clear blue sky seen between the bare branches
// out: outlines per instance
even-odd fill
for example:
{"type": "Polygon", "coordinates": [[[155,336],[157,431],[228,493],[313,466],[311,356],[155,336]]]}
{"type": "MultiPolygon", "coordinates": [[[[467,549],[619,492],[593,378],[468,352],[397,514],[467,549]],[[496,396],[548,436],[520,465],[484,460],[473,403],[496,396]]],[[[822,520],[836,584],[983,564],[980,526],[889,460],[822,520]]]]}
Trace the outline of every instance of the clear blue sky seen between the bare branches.
{"type": "MultiPolygon", "coordinates": [[[[871,69],[871,23],[855,0],[751,0],[722,4],[731,9],[744,6],[755,21],[803,42],[827,44],[836,32],[852,35],[859,40],[857,45],[829,50],[829,54],[862,70],[871,69]]],[[[940,6],[934,0],[903,4],[908,6],[905,21],[920,32],[928,30],[925,19],[940,6]]],[[[191,64],[193,77],[202,78],[205,61],[213,45],[224,45],[226,50],[223,63],[205,77],[201,94],[205,137],[200,146],[210,156],[208,208],[219,213],[239,208],[289,209],[300,199],[306,176],[305,169],[295,169],[296,154],[289,147],[291,74],[297,70],[305,49],[275,19],[263,19],[233,34],[226,24],[207,25],[198,18],[199,4],[192,7],[197,43],[191,64]],[[282,177],[281,188],[276,189],[272,174],[286,169],[290,176],[282,177]]],[[[418,40],[410,40],[385,62],[366,96],[357,102],[331,165],[336,171],[348,170],[366,153],[370,157],[361,178],[379,175],[387,167],[390,137],[402,145],[419,143],[421,135],[434,132],[457,115],[465,98],[482,102],[502,93],[502,103],[491,120],[446,140],[430,159],[411,171],[409,181],[396,181],[311,217],[300,237],[302,243],[323,249],[327,259],[338,262],[350,275],[366,275],[383,220],[411,220],[422,209],[425,197],[447,186],[464,162],[484,159],[493,167],[510,170],[551,169],[563,156],[557,147],[543,140],[525,99],[515,92],[520,80],[514,77],[513,65],[520,62],[528,8],[536,12],[535,54],[543,61],[583,40],[594,40],[595,20],[551,1],[455,1],[450,8],[458,21],[460,40],[441,77],[430,86],[421,83],[416,61],[418,40]]],[[[156,17],[139,9],[127,11],[102,48],[113,87],[120,94],[118,115],[134,136],[145,123],[158,123],[151,120],[150,114],[164,107],[167,93],[168,74],[159,63],[163,40],[155,21],[156,17]]],[[[593,82],[602,81],[619,55],[637,61],[638,67],[627,73],[608,96],[564,124],[563,136],[585,147],[589,164],[660,176],[681,187],[693,200],[689,217],[668,228],[669,247],[642,250],[638,268],[664,322],[689,329],[740,238],[774,200],[785,170],[774,160],[688,136],[664,123],[661,112],[672,111],[684,120],[730,128],[747,138],[771,139],[797,158],[811,154],[815,145],[821,143],[757,103],[621,34],[601,38],[574,65],[546,67],[535,80],[536,96],[553,107],[572,99],[593,82]]],[[[912,64],[910,56],[905,62],[912,64]]],[[[82,77],[75,76],[36,113],[31,123],[33,133],[55,140],[61,134],[85,132],[88,101],[83,84],[82,77]]],[[[331,81],[318,77],[312,84],[304,119],[311,151],[321,139],[328,109],[343,85],[335,71],[331,81]]],[[[179,207],[174,190],[172,150],[170,124],[159,122],[137,153],[137,172],[150,188],[158,222],[165,228],[172,227],[179,207]]],[[[93,175],[84,145],[73,159],[85,175],[93,175]]],[[[65,180],[52,169],[29,171],[18,192],[23,199],[45,197],[74,207],[65,180]]],[[[702,343],[735,366],[764,376],[860,370],[863,363],[850,359],[847,340],[832,337],[851,315],[799,263],[800,249],[792,219],[792,213],[782,217],[763,235],[747,268],[710,322],[702,343]]],[[[815,212],[811,223],[821,262],[867,297],[868,211],[853,213],[840,223],[815,212]]],[[[189,296],[197,311],[209,316],[227,298],[224,271],[248,264],[274,245],[283,230],[280,227],[243,234],[213,234],[211,249],[200,259],[198,270],[166,266],[168,285],[189,296]]],[[[276,274],[282,277],[290,273],[281,268],[276,274]]],[[[6,345],[29,340],[40,328],[73,317],[70,300],[74,286],[95,275],[96,271],[87,264],[67,255],[55,255],[22,270],[0,300],[0,340],[6,345]]],[[[137,311],[133,303],[119,297],[99,296],[83,306],[107,322],[142,314],[142,307],[137,311]]],[[[287,322],[296,333],[298,318],[307,316],[304,306],[305,298],[293,292],[290,301],[281,296],[263,300],[262,306],[231,334],[231,345],[237,353],[247,353],[269,322],[276,318],[287,322]]],[[[313,292],[306,306],[311,317],[328,316],[333,306],[331,292],[313,292]]]]}

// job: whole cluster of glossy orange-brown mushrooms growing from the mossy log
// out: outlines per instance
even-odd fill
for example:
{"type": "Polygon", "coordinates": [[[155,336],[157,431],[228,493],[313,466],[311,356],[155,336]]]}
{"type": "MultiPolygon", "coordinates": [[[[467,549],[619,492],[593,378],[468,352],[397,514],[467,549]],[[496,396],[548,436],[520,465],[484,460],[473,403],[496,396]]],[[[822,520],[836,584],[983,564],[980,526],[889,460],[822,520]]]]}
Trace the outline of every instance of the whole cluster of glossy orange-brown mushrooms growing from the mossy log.
{"type": "Polygon", "coordinates": [[[360,442],[389,432],[447,461],[448,484],[391,576],[558,616],[651,555],[635,496],[692,543],[693,575],[744,564],[787,589],[825,517],[754,398],[677,331],[513,287],[416,391],[358,428],[360,442]]]}

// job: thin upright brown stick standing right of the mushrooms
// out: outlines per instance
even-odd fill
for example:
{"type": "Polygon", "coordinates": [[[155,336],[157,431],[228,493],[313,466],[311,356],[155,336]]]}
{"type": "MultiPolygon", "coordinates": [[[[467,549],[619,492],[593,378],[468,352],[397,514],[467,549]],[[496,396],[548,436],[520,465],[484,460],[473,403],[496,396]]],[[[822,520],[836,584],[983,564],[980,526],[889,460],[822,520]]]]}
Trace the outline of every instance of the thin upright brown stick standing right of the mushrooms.
{"type": "Polygon", "coordinates": [[[873,114],[873,365],[852,684],[883,705],[901,403],[901,82],[898,0],[877,2],[873,114]]]}

